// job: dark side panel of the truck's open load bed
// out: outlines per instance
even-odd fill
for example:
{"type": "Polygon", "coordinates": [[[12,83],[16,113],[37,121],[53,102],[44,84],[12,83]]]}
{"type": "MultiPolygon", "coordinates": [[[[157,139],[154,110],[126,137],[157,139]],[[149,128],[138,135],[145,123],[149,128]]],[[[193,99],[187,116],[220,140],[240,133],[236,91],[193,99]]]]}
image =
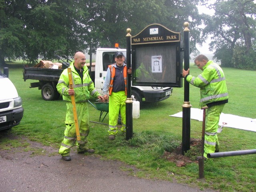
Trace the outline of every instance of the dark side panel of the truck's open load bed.
{"type": "Polygon", "coordinates": [[[24,67],[23,79],[58,82],[63,69],[24,67]]]}

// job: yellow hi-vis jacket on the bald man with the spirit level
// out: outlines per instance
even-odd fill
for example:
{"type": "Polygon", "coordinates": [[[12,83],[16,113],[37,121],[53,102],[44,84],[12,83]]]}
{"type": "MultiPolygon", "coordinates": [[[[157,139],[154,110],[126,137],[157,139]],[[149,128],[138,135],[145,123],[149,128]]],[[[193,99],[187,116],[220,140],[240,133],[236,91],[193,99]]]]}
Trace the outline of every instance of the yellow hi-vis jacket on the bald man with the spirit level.
{"type": "MultiPolygon", "coordinates": [[[[94,88],[94,83],[88,74],[87,66],[84,66],[83,71],[83,83],[74,68],[74,62],[70,64],[73,75],[73,88],[75,91],[75,101],[76,102],[86,102],[89,100],[90,95],[94,98],[100,96],[99,92],[94,88]]],[[[60,79],[56,86],[58,92],[62,94],[62,98],[65,101],[71,102],[71,97],[68,94],[69,87],[69,80],[68,80],[68,69],[64,69],[62,74],[60,75],[60,79]]]]}

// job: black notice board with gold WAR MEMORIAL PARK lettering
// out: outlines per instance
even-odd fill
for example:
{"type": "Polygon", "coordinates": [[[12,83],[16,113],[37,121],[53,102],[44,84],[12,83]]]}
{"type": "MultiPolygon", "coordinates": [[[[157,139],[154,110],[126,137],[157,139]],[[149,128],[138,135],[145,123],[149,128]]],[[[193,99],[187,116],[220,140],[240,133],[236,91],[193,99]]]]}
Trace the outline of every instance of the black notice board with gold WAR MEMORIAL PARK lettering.
{"type": "Polygon", "coordinates": [[[131,48],[132,85],[182,87],[182,38],[179,32],[151,24],[132,36],[131,48]]]}

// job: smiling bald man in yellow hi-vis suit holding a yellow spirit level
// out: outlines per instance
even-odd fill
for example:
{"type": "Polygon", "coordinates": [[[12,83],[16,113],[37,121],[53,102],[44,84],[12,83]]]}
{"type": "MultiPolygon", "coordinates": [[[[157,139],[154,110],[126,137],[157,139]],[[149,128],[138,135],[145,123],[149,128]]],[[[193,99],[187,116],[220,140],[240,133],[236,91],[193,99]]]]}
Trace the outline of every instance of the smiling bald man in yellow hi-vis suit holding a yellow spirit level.
{"type": "Polygon", "coordinates": [[[66,101],[66,129],[64,139],[61,143],[59,154],[62,159],[70,161],[70,148],[76,143],[78,153],[93,153],[93,149],[86,146],[88,142],[86,137],[89,134],[89,113],[87,101],[91,96],[104,101],[104,98],[94,88],[94,84],[88,74],[88,68],[85,66],[85,55],[82,52],[77,52],[74,55],[74,62],[70,64],[73,75],[74,90],[69,87],[68,69],[63,70],[60,79],[56,86],[58,92],[62,94],[63,100],[66,101]],[[78,126],[80,132],[80,141],[76,142],[76,128],[74,123],[73,105],[71,96],[74,95],[76,101],[76,112],[78,116],[78,126]]]}

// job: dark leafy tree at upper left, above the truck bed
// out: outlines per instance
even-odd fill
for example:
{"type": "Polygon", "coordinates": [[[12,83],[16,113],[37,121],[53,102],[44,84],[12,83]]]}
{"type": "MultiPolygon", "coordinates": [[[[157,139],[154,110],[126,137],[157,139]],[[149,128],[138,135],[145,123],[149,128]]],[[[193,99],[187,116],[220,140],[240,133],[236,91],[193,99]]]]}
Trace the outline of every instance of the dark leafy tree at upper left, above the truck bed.
{"type": "Polygon", "coordinates": [[[67,55],[84,50],[85,12],[78,2],[0,0],[0,64],[4,59],[53,59],[56,50],[67,55]]]}

